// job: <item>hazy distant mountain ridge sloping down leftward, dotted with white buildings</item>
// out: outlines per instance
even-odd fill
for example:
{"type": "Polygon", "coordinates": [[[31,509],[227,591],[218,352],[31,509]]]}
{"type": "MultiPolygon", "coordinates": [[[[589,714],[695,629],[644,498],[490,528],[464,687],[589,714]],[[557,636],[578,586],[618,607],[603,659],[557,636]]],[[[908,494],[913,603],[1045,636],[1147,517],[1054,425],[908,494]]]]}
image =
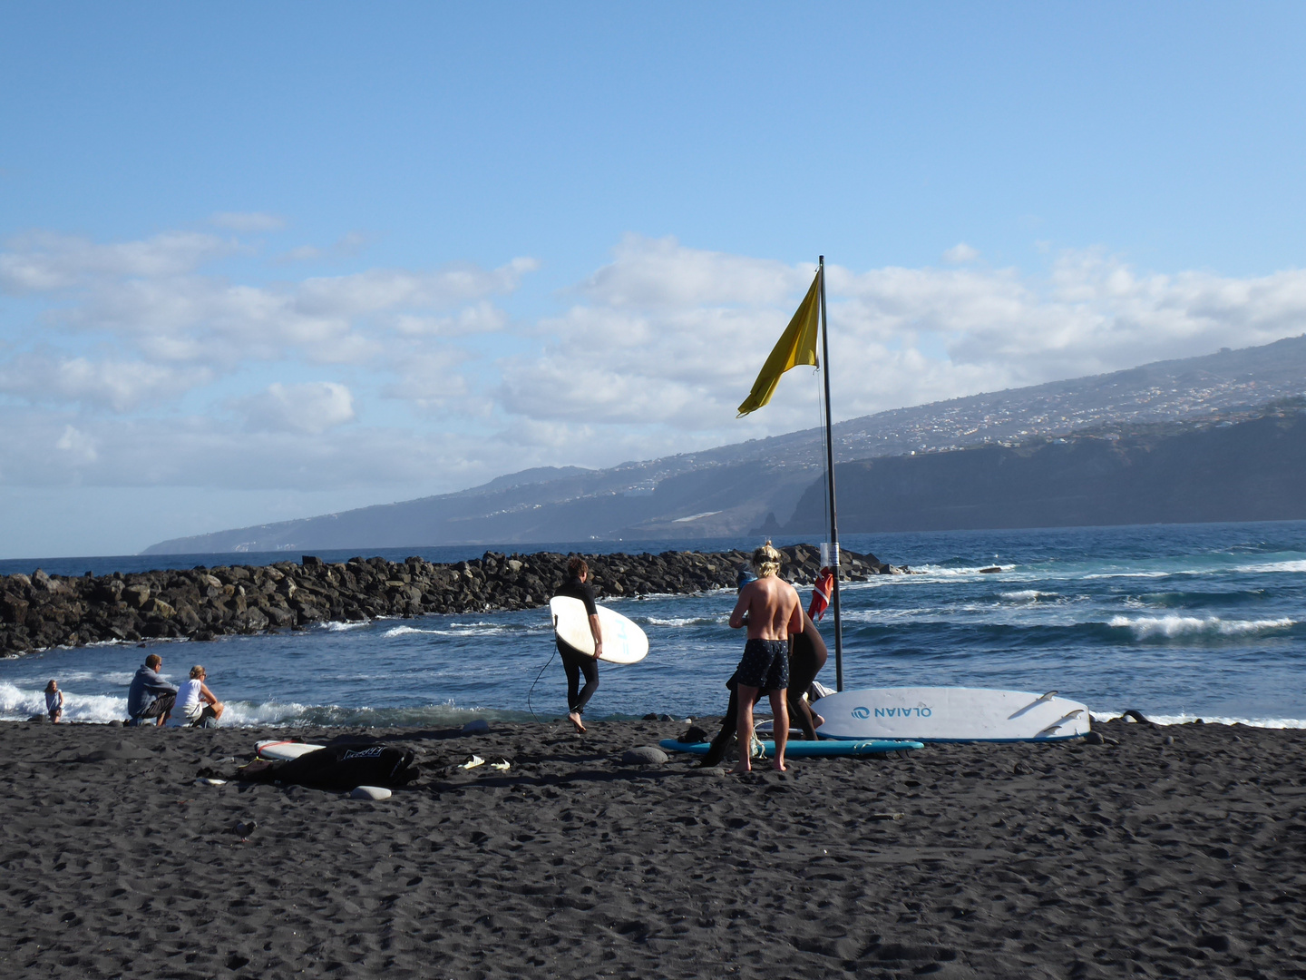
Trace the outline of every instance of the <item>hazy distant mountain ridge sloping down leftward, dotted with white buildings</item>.
{"type": "MultiPolygon", "coordinates": [[[[1250,418],[1303,393],[1306,336],[863,416],[835,426],[835,453],[853,461],[1121,435],[1250,418]]],[[[144,554],[727,537],[802,517],[795,508],[811,507],[799,502],[821,456],[820,430],[807,429],[607,469],[542,466],[452,494],[172,538],[144,554]]],[[[844,497],[841,486],[841,510],[844,497]]]]}

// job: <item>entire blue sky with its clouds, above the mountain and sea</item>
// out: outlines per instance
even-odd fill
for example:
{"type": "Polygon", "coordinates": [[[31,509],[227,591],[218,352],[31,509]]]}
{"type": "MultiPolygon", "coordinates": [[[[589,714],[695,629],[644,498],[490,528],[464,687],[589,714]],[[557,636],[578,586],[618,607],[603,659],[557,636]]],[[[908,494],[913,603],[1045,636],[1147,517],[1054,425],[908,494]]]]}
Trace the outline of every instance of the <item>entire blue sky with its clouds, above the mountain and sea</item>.
{"type": "Polygon", "coordinates": [[[1303,21],[5,4],[0,557],[1302,333],[1303,21]]]}

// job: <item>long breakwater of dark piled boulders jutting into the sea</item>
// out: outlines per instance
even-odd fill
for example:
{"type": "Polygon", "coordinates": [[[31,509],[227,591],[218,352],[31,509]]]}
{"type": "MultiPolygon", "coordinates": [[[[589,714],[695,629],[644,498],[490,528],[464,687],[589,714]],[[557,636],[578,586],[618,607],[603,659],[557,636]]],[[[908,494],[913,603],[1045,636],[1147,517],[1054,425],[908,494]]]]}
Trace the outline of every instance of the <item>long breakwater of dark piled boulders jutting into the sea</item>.
{"type": "MultiPolygon", "coordinates": [[[[780,549],[782,574],[810,584],[819,551],[780,549]]],[[[871,554],[844,551],[844,578],[901,571],[871,554]]],[[[734,588],[746,551],[584,555],[602,597],[688,595],[734,588]]],[[[293,630],[383,615],[532,609],[562,585],[568,555],[502,554],[453,564],[422,558],[231,564],[185,571],[69,578],[37,570],[0,576],[0,653],[142,639],[209,640],[223,634],[293,630]]]]}

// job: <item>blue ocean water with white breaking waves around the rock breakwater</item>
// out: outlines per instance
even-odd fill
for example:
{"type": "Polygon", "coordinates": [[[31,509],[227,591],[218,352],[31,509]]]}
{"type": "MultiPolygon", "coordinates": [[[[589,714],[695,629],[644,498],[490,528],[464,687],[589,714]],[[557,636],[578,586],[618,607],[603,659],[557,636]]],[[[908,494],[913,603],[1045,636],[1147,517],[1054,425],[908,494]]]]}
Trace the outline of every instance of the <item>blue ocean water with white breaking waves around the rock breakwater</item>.
{"type": "MultiPolygon", "coordinates": [[[[756,544],[586,542],[549,550],[756,544]]],[[[852,534],[844,545],[921,572],[845,584],[846,687],[1058,690],[1098,716],[1136,708],[1171,723],[1203,717],[1306,727],[1306,521],[852,534]],[[1002,571],[980,571],[993,564],[1002,571]]],[[[457,561],[483,550],[383,554],[457,561]]],[[[167,563],[286,557],[176,555],[167,563]]],[[[163,563],[158,557],[50,559],[4,562],[0,571],[40,564],[51,572],[103,574],[163,563]]],[[[801,592],[806,602],[810,592],[801,592]]],[[[611,602],[644,627],[650,653],[632,666],[603,665],[588,716],[724,711],[725,681],[742,648],[726,622],[733,604],[733,591],[611,602]]],[[[828,615],[821,627],[833,651],[828,615]]],[[[151,643],[149,651],[163,657],[163,673],[174,681],[204,664],[210,687],[229,704],[226,724],[447,727],[474,716],[525,720],[565,712],[547,609],[328,623],[202,644],[151,643]]],[[[67,720],[123,717],[127,685],[146,652],[102,644],[0,660],[0,717],[40,711],[48,678],[65,691],[67,720]]],[[[819,679],[835,686],[833,655],[819,679]]]]}

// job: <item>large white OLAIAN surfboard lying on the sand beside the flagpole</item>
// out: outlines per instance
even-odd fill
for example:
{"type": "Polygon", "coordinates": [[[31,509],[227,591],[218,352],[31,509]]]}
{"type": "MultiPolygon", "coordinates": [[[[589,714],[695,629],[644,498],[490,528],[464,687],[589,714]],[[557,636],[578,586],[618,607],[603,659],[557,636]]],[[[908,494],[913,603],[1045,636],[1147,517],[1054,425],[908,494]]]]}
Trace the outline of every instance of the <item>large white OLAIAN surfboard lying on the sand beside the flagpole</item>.
{"type": "Polygon", "coordinates": [[[1049,742],[1088,734],[1088,708],[1057,691],[987,687],[863,687],[819,699],[825,738],[917,742],[1049,742]]]}

